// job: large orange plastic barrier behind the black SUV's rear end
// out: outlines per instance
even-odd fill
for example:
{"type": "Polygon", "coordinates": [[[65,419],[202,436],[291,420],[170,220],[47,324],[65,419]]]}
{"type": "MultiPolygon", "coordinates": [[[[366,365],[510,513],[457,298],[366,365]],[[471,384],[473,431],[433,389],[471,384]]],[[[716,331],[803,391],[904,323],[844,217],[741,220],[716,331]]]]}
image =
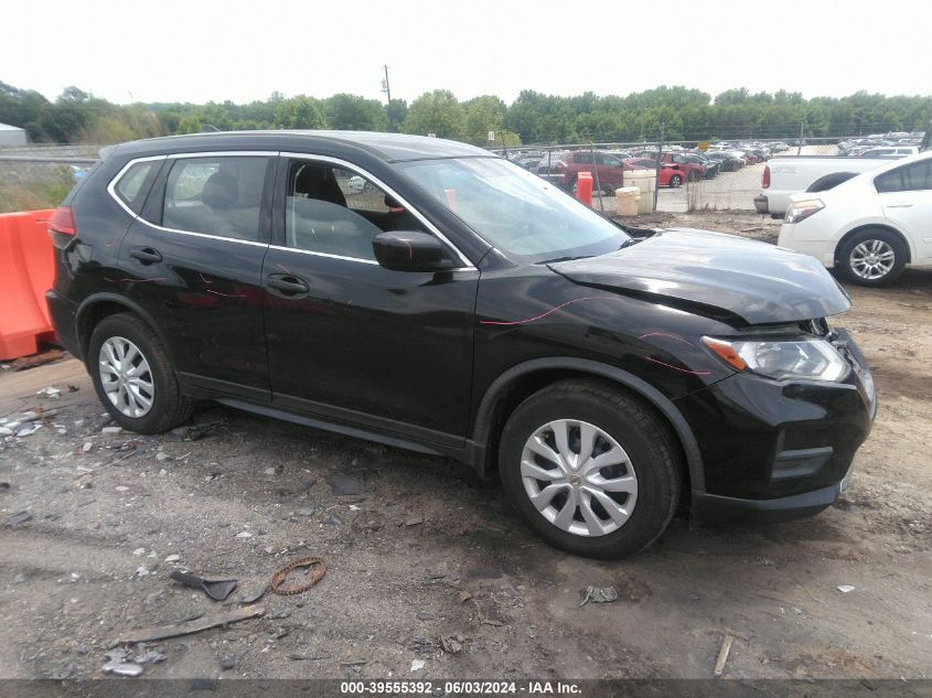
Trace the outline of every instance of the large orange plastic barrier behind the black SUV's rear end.
{"type": "Polygon", "coordinates": [[[0,359],[54,342],[45,291],[55,277],[46,224],[51,211],[0,214],[0,359]]]}

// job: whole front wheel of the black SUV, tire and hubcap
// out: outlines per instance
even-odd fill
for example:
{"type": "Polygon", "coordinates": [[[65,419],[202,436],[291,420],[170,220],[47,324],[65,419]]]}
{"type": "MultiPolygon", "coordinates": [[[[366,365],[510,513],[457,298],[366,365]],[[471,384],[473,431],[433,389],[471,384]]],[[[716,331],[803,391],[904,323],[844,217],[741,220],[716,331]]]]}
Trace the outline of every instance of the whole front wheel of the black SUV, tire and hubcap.
{"type": "Polygon", "coordinates": [[[656,539],[679,497],[676,450],[640,400],[566,380],[522,402],[502,432],[502,484],[547,543],[619,558],[656,539]]]}

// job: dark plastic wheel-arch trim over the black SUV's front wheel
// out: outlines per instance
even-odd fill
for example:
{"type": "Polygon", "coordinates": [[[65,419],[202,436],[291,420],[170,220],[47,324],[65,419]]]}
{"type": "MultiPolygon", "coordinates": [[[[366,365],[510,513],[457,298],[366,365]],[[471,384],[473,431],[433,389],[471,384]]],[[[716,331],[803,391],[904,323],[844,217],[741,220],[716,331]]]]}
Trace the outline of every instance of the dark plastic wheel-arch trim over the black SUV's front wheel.
{"type": "Polygon", "coordinates": [[[693,434],[692,428],[683,417],[683,414],[669,398],[647,382],[628,373],[626,371],[622,371],[621,368],[615,368],[614,366],[609,366],[607,364],[601,364],[599,362],[586,358],[572,358],[569,356],[535,358],[524,362],[522,364],[517,364],[516,366],[512,366],[492,382],[492,385],[489,386],[489,389],[485,391],[485,395],[479,405],[479,409],[476,410],[472,439],[470,440],[468,447],[474,452],[470,462],[473,463],[480,472],[480,475],[484,474],[483,455],[488,449],[489,432],[492,429],[492,419],[495,405],[499,399],[506,391],[507,387],[517,378],[538,371],[553,368],[576,371],[608,378],[623,385],[651,402],[651,405],[657,408],[669,421],[674,432],[679,439],[679,443],[683,445],[683,452],[686,454],[686,465],[689,469],[689,481],[693,492],[698,494],[706,491],[706,479],[703,470],[703,457],[699,452],[699,444],[696,441],[696,437],[693,434]]]}

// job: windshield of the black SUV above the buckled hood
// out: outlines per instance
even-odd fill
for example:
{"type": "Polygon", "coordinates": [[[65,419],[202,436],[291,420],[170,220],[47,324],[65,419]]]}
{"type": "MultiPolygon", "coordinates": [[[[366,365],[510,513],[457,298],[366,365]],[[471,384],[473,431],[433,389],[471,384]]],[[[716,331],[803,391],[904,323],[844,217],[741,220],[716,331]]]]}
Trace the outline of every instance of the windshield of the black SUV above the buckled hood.
{"type": "Polygon", "coordinates": [[[549,182],[506,160],[418,160],[396,167],[515,261],[603,255],[630,239],[549,182]]]}

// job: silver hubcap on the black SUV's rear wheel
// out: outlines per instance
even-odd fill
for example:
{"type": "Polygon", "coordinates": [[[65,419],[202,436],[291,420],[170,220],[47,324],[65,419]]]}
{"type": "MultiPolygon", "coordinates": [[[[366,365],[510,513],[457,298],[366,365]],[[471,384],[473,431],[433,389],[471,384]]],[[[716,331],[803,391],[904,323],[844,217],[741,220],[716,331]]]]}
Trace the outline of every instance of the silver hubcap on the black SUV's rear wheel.
{"type": "Polygon", "coordinates": [[[110,402],[127,417],[144,417],[152,409],[156,386],[149,362],[132,342],[110,337],[100,346],[100,385],[110,402]]]}

